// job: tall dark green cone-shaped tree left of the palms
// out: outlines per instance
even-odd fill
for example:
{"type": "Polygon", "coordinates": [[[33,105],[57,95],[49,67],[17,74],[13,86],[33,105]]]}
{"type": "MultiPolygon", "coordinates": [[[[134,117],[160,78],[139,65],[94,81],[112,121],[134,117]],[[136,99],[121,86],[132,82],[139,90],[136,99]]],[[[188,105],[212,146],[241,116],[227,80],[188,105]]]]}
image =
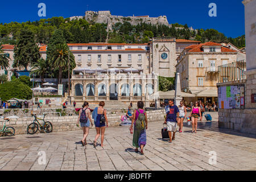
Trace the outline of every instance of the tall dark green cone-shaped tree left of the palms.
{"type": "Polygon", "coordinates": [[[14,47],[13,67],[24,67],[40,59],[39,47],[36,45],[34,34],[29,30],[21,30],[18,43],[14,47]]]}

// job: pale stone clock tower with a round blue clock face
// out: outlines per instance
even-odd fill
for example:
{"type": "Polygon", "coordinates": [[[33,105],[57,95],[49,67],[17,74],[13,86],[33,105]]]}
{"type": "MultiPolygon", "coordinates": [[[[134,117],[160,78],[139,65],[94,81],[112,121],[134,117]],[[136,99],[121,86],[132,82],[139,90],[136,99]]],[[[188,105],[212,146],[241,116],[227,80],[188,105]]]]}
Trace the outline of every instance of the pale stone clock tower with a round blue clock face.
{"type": "Polygon", "coordinates": [[[153,38],[151,44],[151,72],[164,77],[175,77],[176,39],[153,38]]]}

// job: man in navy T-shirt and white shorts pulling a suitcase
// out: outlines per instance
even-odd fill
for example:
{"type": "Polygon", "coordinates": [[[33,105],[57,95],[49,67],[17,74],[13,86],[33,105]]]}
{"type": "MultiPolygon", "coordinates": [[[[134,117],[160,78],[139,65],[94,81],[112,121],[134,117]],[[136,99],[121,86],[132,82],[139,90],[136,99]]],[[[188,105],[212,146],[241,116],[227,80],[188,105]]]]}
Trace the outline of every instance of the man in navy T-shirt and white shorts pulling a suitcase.
{"type": "Polygon", "coordinates": [[[179,108],[174,105],[174,100],[169,100],[169,107],[170,109],[167,111],[166,121],[164,121],[164,123],[167,124],[167,131],[170,138],[169,143],[172,143],[172,140],[175,140],[177,121],[179,119],[179,108]],[[173,135],[172,132],[174,133],[173,135]]]}

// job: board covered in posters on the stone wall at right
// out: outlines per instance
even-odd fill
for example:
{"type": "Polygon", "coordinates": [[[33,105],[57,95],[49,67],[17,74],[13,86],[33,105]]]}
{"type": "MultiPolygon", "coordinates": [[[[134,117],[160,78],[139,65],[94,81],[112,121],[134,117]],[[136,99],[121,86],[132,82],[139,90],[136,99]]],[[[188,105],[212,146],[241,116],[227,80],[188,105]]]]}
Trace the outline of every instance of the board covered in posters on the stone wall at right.
{"type": "Polygon", "coordinates": [[[245,85],[218,87],[220,109],[245,109],[245,85]]]}

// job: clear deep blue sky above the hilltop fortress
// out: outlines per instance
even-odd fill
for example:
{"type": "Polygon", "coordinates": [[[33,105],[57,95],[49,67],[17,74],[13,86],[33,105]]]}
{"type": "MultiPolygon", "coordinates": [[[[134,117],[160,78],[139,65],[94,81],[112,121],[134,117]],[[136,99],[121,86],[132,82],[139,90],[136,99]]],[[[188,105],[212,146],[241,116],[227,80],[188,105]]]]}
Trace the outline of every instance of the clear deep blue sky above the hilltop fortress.
{"type": "Polygon", "coordinates": [[[112,15],[166,15],[169,23],[187,23],[193,28],[214,28],[225,36],[236,38],[245,34],[245,15],[242,0],[12,0],[0,5],[0,23],[39,20],[38,4],[46,4],[46,17],[84,15],[85,11],[110,10],[112,15]],[[157,2],[157,3],[156,3],[157,2]],[[210,17],[209,3],[216,3],[217,17],[210,17]]]}

